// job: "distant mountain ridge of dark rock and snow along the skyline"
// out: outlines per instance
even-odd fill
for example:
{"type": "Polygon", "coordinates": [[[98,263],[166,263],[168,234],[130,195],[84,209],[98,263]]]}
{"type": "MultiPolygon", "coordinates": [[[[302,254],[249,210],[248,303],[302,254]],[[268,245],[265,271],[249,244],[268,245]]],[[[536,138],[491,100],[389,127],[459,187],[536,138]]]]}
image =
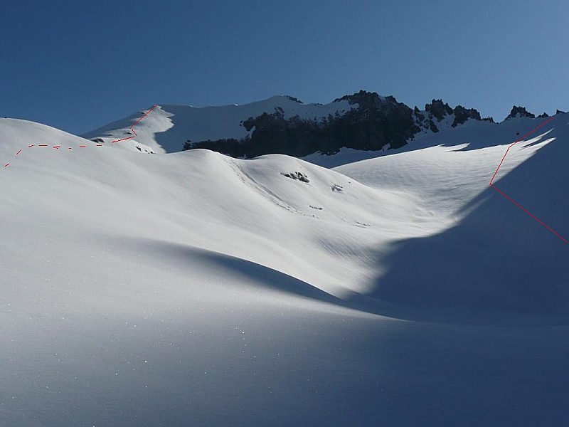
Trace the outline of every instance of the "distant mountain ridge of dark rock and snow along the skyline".
{"type": "MultiPolygon", "coordinates": [[[[83,137],[131,135],[129,126],[143,113],[83,137]]],[[[514,117],[535,115],[525,107],[514,106],[506,120],[514,117]]],[[[135,142],[154,152],[205,148],[240,158],[263,154],[304,157],[313,153],[334,154],[342,148],[395,149],[417,137],[452,129],[469,120],[494,122],[491,117],[482,118],[474,108],[452,108],[442,100],[432,100],[419,110],[393,96],[365,90],[325,105],[304,104],[295,97],[277,95],[245,105],[159,105],[137,125],[135,142]]]]}

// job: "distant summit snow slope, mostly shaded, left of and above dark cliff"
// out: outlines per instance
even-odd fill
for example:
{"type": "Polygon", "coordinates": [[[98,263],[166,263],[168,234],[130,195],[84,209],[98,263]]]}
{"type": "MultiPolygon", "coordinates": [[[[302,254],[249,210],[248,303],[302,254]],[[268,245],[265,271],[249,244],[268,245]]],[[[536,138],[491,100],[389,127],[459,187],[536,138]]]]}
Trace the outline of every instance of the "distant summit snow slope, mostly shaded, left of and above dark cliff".
{"type": "MultiPolygon", "coordinates": [[[[357,105],[356,105],[357,106],[357,105]]],[[[267,100],[245,105],[221,105],[216,107],[192,107],[190,105],[159,105],[151,115],[137,125],[137,142],[146,144],[155,152],[179,152],[188,139],[206,141],[207,139],[240,139],[250,132],[241,125],[250,117],[263,112],[275,112],[275,108],[285,111],[285,119],[298,115],[302,119],[320,119],[351,110],[353,106],[346,100],[321,104],[302,104],[290,97],[275,95],[267,100]]],[[[125,119],[112,122],[105,127],[92,130],[85,138],[122,138],[129,134],[132,125],[146,110],[125,119]]]]}

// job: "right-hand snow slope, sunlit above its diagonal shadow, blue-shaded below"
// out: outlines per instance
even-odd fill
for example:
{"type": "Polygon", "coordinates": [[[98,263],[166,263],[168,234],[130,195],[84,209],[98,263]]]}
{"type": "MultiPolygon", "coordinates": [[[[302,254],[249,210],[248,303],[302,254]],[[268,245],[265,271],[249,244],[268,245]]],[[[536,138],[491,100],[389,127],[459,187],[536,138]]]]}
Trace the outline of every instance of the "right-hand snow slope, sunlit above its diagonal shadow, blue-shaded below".
{"type": "MultiPolygon", "coordinates": [[[[378,262],[390,266],[388,273],[378,274],[368,296],[442,312],[477,307],[487,314],[497,308],[558,316],[565,322],[566,243],[488,185],[506,147],[517,139],[514,134],[524,135],[545,120],[512,119],[486,127],[486,132],[465,126],[454,139],[447,138],[449,147],[408,149],[336,167],[375,188],[414,188],[421,206],[432,215],[454,218],[442,233],[398,242],[382,256],[378,262]],[[461,140],[470,143],[452,145],[461,140]],[[414,260],[413,269],[405,268],[408,257],[414,260]]],[[[568,179],[564,161],[569,158],[568,121],[568,115],[557,115],[514,145],[494,181],[565,239],[569,201],[559,183],[568,179]]],[[[436,144],[443,137],[437,135],[423,145],[436,144]]]]}

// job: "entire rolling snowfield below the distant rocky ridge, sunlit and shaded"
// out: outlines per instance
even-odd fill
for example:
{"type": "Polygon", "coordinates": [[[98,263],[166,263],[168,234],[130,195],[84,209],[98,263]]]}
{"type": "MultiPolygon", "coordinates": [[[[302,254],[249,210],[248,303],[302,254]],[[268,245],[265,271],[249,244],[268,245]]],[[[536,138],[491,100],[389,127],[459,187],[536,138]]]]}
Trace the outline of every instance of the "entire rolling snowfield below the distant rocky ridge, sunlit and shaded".
{"type": "MultiPolygon", "coordinates": [[[[565,237],[568,122],[495,181],[565,237]]],[[[562,425],[569,245],[488,185],[539,123],[326,169],[0,119],[0,426],[562,425]]]]}

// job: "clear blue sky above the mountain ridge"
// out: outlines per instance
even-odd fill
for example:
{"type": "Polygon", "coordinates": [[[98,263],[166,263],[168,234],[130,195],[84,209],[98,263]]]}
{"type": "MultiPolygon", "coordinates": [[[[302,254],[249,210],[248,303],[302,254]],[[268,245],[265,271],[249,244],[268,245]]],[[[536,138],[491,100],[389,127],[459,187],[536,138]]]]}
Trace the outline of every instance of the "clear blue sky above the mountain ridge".
{"type": "Polygon", "coordinates": [[[569,110],[569,1],[0,3],[0,116],[81,133],[156,103],[365,89],[503,120],[569,110]]]}

